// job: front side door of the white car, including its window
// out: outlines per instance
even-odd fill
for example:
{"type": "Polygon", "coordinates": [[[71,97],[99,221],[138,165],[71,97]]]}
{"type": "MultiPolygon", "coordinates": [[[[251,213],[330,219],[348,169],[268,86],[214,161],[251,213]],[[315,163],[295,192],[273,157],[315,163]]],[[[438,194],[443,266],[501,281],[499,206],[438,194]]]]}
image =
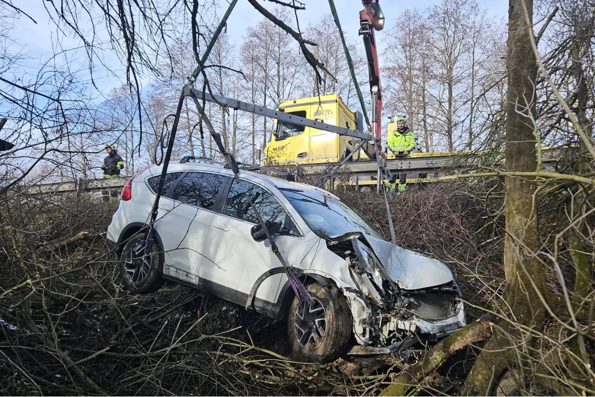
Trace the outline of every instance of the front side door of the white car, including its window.
{"type": "MultiPolygon", "coordinates": [[[[287,258],[296,235],[299,236],[292,219],[273,194],[247,180],[233,180],[222,213],[212,218],[205,247],[205,255],[211,262],[203,262],[203,267],[205,271],[209,268],[212,293],[241,305],[246,304],[259,277],[282,266],[268,240],[256,242],[252,239],[250,229],[258,220],[250,200],[264,221],[283,222],[284,232],[275,234],[273,239],[284,258],[287,258]]],[[[256,310],[270,313],[281,276],[277,273],[262,281],[255,293],[256,310]]]]}

